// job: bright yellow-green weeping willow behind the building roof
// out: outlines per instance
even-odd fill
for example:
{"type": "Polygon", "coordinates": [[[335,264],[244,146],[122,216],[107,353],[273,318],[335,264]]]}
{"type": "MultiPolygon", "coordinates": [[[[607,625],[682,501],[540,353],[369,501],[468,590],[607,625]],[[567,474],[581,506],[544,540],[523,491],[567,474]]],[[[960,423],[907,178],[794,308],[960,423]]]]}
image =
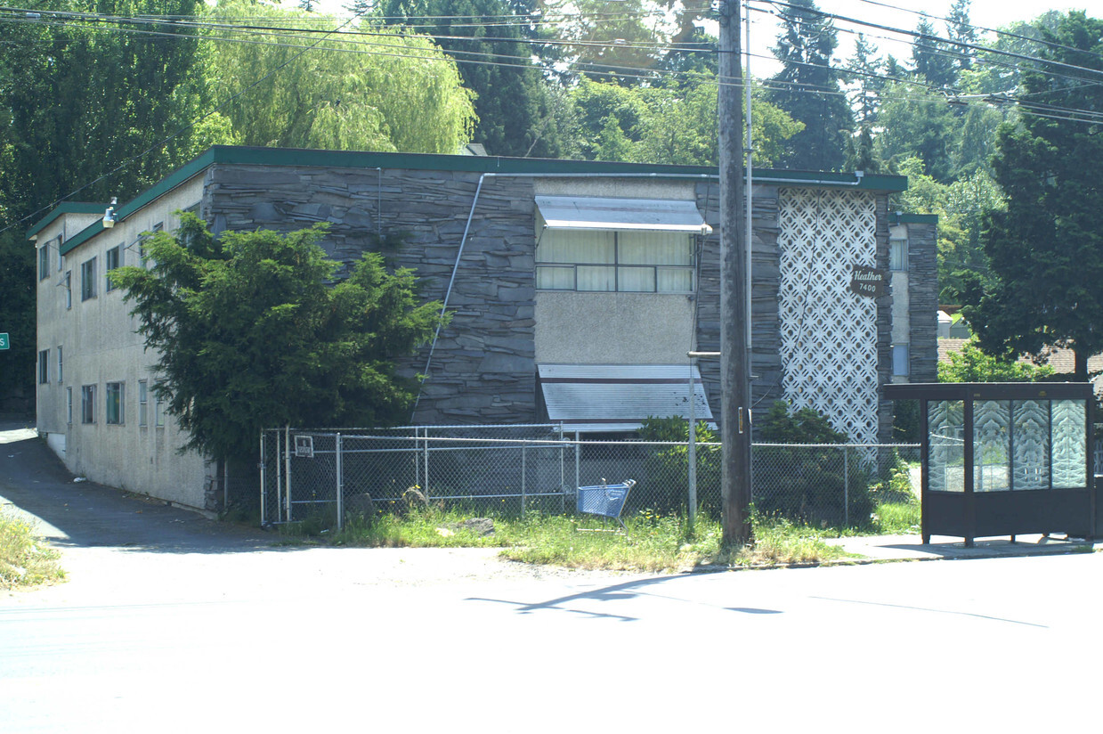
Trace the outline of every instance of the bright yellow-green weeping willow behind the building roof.
{"type": "MultiPolygon", "coordinates": [[[[214,21],[242,15],[276,28],[333,30],[325,18],[251,0],[211,11],[214,21]]],[[[240,142],[436,153],[467,143],[474,111],[454,62],[427,36],[363,22],[360,30],[372,33],[371,45],[362,36],[334,33],[319,42],[318,33],[295,31],[280,45],[225,43],[211,31],[213,86],[223,102],[233,99],[224,109],[240,142]]]]}

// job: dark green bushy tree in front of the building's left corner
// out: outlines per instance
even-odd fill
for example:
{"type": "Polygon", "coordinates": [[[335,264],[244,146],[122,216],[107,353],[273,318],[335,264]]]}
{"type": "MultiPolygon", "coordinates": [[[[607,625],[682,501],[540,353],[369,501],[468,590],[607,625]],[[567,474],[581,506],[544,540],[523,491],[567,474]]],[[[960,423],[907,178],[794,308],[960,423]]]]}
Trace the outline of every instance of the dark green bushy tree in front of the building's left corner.
{"type": "Polygon", "coordinates": [[[413,272],[388,273],[377,253],[338,278],[318,244],[325,230],[215,238],[183,214],[148,242],[151,268],[111,270],[160,354],[157,390],[188,448],[248,457],[265,426],[406,415],[415,389],[395,359],[432,337],[440,304],[419,305],[413,272]]]}

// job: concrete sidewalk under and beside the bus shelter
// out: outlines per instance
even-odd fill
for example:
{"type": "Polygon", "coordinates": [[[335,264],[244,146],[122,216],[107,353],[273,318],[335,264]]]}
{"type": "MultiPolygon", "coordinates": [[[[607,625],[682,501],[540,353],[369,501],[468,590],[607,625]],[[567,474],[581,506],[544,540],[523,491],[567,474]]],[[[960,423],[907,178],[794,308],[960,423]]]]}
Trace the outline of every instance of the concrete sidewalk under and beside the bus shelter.
{"type": "Polygon", "coordinates": [[[1027,555],[1058,555],[1084,553],[1103,549],[1103,542],[1094,546],[1082,539],[1068,540],[1063,536],[1017,535],[1010,542],[1002,538],[978,538],[973,547],[965,547],[961,538],[934,535],[929,545],[923,545],[919,535],[868,535],[836,538],[826,542],[842,545],[847,553],[863,556],[868,561],[954,561],[960,559],[998,559],[1027,555]]]}

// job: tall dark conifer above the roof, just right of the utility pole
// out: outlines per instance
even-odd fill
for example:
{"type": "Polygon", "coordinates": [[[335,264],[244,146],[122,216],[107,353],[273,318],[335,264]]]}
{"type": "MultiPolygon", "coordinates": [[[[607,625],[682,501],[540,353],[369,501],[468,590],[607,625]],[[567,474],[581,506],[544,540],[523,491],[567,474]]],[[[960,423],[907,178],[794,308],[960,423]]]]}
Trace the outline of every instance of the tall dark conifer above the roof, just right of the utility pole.
{"type": "Polygon", "coordinates": [[[773,54],[782,70],[770,78],[768,100],[804,129],[789,139],[779,161],[789,168],[833,171],[843,167],[854,129],[843,94],[843,72],[832,66],[838,32],[813,0],[793,0],[773,54]]]}

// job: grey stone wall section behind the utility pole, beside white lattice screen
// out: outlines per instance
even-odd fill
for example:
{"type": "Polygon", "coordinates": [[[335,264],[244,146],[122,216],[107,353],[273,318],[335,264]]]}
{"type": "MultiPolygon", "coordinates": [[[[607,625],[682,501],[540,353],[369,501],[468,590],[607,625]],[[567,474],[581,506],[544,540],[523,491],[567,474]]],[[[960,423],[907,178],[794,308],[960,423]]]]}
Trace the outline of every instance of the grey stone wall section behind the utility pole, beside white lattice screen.
{"type": "MultiPolygon", "coordinates": [[[[780,251],[778,249],[778,187],[756,184],[752,196],[751,244],[751,383],[752,403],[760,415],[781,392],[781,321],[778,312],[780,251]]],[[[700,245],[697,299],[697,349],[720,351],[720,189],[697,184],[697,209],[713,227],[700,245]]],[[[720,415],[720,360],[697,361],[713,415],[720,415]]]]}

